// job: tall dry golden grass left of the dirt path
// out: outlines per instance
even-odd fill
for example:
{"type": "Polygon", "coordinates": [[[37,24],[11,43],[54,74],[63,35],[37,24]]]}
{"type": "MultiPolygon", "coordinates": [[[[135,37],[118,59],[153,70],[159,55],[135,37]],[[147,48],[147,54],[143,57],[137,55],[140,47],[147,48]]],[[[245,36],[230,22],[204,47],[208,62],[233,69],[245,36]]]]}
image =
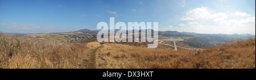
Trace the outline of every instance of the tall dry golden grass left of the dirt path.
{"type": "MultiPolygon", "coordinates": [[[[84,68],[89,49],[96,47],[65,41],[22,41],[22,37],[0,33],[0,68],[84,68]]],[[[90,43],[91,44],[91,43],[90,43]]]]}

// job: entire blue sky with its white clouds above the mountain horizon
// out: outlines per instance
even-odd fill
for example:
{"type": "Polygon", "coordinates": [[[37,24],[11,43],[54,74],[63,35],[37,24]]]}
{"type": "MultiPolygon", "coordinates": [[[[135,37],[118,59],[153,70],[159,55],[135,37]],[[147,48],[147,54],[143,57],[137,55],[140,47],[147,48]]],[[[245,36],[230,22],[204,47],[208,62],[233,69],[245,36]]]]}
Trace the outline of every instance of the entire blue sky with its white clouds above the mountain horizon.
{"type": "Polygon", "coordinates": [[[158,22],[159,31],[255,35],[255,0],[0,0],[0,31],[96,30],[99,22],[158,22]]]}

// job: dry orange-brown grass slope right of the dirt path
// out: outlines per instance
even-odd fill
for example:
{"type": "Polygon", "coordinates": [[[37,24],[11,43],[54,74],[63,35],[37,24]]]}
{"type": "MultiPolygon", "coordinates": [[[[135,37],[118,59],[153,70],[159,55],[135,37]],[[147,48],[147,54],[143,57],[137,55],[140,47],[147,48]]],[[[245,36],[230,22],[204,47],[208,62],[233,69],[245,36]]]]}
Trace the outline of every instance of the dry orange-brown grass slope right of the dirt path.
{"type": "MultiPolygon", "coordinates": [[[[205,50],[147,49],[122,44],[104,44],[101,50],[108,62],[105,68],[253,68],[255,69],[255,39],[238,41],[205,50]]],[[[101,67],[100,67],[101,68],[101,67]]]]}

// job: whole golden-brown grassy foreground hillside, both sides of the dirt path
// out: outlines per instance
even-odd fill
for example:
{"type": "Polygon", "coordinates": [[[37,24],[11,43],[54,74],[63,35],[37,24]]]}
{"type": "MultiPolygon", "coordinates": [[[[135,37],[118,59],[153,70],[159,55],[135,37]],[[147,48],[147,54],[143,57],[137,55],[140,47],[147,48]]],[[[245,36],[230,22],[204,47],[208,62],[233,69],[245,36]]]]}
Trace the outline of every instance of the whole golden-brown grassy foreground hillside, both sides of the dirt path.
{"type": "Polygon", "coordinates": [[[86,68],[92,50],[97,50],[96,68],[255,69],[255,39],[211,49],[177,52],[115,43],[100,45],[98,42],[31,41],[0,33],[0,69],[86,68]]]}

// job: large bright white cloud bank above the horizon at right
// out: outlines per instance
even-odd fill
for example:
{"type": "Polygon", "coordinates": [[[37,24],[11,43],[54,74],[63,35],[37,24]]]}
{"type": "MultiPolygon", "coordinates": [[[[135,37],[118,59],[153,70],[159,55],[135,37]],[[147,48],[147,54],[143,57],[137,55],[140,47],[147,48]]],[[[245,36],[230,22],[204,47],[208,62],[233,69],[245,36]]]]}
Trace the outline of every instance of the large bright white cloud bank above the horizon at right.
{"type": "MultiPolygon", "coordinates": [[[[208,7],[199,7],[188,11],[181,20],[189,20],[187,27],[174,28],[175,31],[197,33],[250,33],[255,35],[255,16],[246,12],[216,12],[208,7]],[[192,28],[189,30],[188,28],[192,28]]],[[[179,24],[179,26],[184,26],[179,24]]],[[[185,25],[186,26],[186,25],[185,25]]]]}

